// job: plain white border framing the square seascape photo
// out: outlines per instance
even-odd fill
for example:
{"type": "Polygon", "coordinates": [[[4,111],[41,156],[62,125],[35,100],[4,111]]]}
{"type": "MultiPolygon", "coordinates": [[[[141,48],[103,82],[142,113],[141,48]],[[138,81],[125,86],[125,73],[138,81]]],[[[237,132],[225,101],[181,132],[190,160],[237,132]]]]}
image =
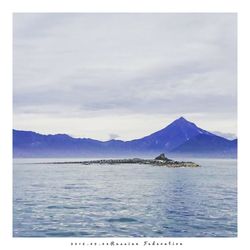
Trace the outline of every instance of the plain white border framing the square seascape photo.
{"type": "MultiPolygon", "coordinates": [[[[0,3],[0,248],[74,249],[71,242],[106,241],[105,238],[13,238],[12,237],[12,14],[14,12],[237,12],[238,13],[238,237],[167,238],[182,242],[178,249],[246,249],[249,219],[249,9],[247,1],[226,0],[12,0],[0,3]]],[[[129,239],[129,238],[128,238],[129,239]]],[[[133,241],[132,238],[130,238],[133,241]]],[[[150,238],[147,238],[150,239],[150,238]]],[[[117,240],[117,238],[112,238],[117,240]]],[[[125,239],[124,239],[125,240],[125,239]]],[[[136,241],[144,242],[145,238],[136,241]]],[[[157,242],[166,238],[154,238],[157,242]]],[[[111,241],[109,238],[108,241],[111,241]]],[[[169,247],[169,246],[168,246],[169,247]]],[[[83,248],[83,246],[77,246],[83,248]]],[[[87,247],[85,247],[87,248],[87,247]]],[[[92,246],[91,248],[96,248],[92,246]]],[[[117,248],[117,247],[112,247],[117,248]]],[[[123,247],[125,248],[125,246],[123,247]]],[[[129,248],[137,248],[132,247],[129,248]]],[[[157,249],[166,246],[156,246],[157,249]]],[[[172,248],[175,248],[172,246],[172,248]]]]}

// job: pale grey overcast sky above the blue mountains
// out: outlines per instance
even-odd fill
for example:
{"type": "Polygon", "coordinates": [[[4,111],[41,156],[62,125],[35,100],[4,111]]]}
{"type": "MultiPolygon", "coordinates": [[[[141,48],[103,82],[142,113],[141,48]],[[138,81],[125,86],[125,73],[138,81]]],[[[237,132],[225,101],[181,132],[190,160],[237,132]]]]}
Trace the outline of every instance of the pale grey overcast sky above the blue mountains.
{"type": "Polygon", "coordinates": [[[129,140],[184,116],[232,137],[236,14],[14,14],[14,128],[129,140]]]}

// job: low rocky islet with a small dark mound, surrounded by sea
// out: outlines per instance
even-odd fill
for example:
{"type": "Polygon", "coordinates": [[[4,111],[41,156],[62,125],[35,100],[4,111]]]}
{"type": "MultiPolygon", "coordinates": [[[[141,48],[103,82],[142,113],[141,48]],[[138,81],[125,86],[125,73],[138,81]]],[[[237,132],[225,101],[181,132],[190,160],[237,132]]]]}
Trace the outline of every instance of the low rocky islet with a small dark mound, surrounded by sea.
{"type": "Polygon", "coordinates": [[[161,166],[169,168],[200,167],[198,164],[189,161],[174,161],[168,159],[164,154],[160,154],[155,159],[104,159],[93,161],[72,161],[72,162],[52,162],[51,164],[83,164],[83,165],[115,165],[115,164],[142,164],[151,166],[161,166]]]}

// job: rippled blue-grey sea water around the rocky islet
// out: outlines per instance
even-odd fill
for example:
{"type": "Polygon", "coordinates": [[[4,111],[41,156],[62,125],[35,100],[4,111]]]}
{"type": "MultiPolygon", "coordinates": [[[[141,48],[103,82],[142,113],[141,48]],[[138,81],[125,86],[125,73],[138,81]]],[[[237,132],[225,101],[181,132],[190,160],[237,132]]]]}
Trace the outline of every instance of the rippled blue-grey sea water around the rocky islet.
{"type": "Polygon", "coordinates": [[[15,237],[237,236],[236,160],[179,169],[32,164],[45,161],[53,160],[14,160],[15,237]]]}

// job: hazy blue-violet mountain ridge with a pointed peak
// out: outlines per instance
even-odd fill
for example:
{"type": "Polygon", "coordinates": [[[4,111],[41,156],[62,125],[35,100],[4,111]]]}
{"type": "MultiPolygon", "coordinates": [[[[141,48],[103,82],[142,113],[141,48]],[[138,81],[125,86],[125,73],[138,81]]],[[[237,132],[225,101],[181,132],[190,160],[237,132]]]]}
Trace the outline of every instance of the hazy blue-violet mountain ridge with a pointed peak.
{"type": "Polygon", "coordinates": [[[180,117],[165,128],[131,141],[98,141],[66,134],[13,130],[14,157],[110,157],[165,152],[190,156],[236,157],[237,140],[217,136],[180,117]]]}

